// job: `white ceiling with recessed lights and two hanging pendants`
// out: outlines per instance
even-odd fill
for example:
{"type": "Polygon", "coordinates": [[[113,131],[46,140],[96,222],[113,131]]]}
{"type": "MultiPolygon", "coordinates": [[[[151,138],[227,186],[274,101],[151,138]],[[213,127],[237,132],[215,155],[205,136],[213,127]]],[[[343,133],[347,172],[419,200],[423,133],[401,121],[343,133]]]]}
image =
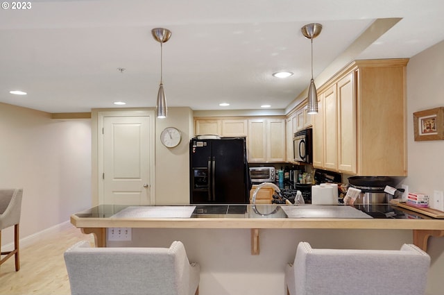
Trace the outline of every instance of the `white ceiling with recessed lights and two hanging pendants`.
{"type": "Polygon", "coordinates": [[[119,107],[114,101],[154,107],[160,83],[155,27],[172,33],[163,45],[167,105],[193,110],[257,110],[262,104],[288,109],[309,84],[310,40],[300,28],[311,22],[323,25],[313,42],[318,86],[329,71],[352,60],[410,58],[444,40],[442,0],[33,0],[31,5],[0,10],[0,102],[52,113],[119,107]],[[382,26],[373,27],[377,20],[382,26]],[[126,70],[121,73],[120,67],[126,70]],[[271,76],[282,70],[294,74],[271,76]],[[230,106],[222,108],[222,102],[230,106]]]}

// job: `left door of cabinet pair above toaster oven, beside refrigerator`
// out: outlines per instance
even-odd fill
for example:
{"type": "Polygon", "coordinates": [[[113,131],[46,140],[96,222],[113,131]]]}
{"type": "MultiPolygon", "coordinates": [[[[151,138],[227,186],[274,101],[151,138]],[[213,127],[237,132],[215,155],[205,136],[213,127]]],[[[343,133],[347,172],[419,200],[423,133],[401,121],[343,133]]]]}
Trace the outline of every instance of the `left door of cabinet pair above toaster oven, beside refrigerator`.
{"type": "Polygon", "coordinates": [[[266,162],[266,120],[248,120],[248,162],[266,162]]]}

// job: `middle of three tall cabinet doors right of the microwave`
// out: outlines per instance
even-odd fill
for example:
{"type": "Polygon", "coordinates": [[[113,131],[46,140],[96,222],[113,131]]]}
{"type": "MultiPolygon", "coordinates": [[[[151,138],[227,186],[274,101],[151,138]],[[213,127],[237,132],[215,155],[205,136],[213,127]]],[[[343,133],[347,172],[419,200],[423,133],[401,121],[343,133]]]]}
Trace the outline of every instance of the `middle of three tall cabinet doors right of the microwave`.
{"type": "Polygon", "coordinates": [[[336,120],[336,85],[323,92],[324,100],[324,167],[337,169],[338,142],[336,120]]]}

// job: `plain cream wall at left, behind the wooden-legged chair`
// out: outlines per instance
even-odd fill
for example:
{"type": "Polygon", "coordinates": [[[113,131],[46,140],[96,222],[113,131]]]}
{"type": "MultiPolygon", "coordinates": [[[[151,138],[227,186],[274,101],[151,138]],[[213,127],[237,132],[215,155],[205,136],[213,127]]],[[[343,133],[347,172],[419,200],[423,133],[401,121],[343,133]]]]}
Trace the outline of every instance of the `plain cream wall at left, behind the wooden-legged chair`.
{"type": "MultiPolygon", "coordinates": [[[[0,103],[0,163],[0,187],[24,189],[20,237],[91,206],[89,121],[0,103]]],[[[2,245],[13,241],[12,229],[2,230],[2,245]]]]}

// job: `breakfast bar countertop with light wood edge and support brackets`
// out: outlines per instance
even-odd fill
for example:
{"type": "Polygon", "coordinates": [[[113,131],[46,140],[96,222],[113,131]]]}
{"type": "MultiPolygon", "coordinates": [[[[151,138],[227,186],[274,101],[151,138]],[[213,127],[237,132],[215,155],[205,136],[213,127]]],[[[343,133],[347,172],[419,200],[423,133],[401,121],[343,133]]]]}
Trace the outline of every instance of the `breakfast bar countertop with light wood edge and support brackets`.
{"type": "Polygon", "coordinates": [[[106,228],[250,229],[259,254],[260,230],[413,230],[413,244],[427,251],[429,237],[444,236],[444,220],[393,204],[355,205],[98,205],[71,215],[71,224],[106,246],[106,228]]]}

